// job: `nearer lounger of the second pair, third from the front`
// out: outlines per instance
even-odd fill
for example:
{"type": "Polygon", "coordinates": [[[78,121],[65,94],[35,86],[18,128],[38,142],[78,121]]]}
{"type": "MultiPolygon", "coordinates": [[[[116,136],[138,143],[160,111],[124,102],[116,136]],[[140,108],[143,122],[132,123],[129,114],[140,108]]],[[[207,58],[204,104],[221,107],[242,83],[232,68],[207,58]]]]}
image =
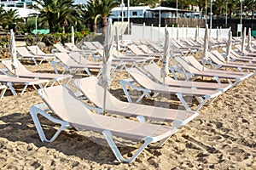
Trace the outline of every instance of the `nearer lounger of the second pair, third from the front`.
{"type": "Polygon", "coordinates": [[[177,87],[168,87],[157,82],[152,81],[148,78],[142,71],[137,70],[136,68],[127,69],[126,71],[131,75],[131,78],[121,80],[121,86],[125,92],[126,98],[129,102],[132,102],[131,96],[128,92],[126,85],[142,91],[143,94],[137,99],[136,103],[143,99],[144,96],[153,92],[154,94],[175,94],[180,102],[183,104],[187,111],[191,111],[188,103],[183,98],[184,96],[195,96],[200,103],[194,111],[198,111],[203,105],[207,103],[207,100],[210,99],[208,104],[211,104],[214,99],[218,97],[219,94],[222,94],[219,90],[206,90],[206,89],[189,89],[189,88],[177,88],[177,87]],[[134,83],[138,83],[142,88],[137,87],[134,83]]]}

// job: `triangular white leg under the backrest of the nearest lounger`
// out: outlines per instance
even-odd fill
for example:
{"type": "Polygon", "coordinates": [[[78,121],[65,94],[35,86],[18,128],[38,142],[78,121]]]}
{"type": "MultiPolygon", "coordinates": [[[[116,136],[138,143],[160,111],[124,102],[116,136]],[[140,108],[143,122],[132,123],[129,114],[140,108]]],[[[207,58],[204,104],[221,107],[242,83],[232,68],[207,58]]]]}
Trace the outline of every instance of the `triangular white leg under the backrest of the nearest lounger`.
{"type": "Polygon", "coordinates": [[[71,127],[68,122],[64,122],[64,121],[55,119],[54,117],[52,117],[48,113],[42,111],[38,107],[32,106],[29,111],[30,111],[30,114],[32,116],[32,120],[33,120],[33,122],[34,122],[34,124],[37,128],[38,135],[39,135],[42,142],[53,142],[59,136],[59,134],[61,133],[62,130],[66,130],[68,127],[71,127]],[[58,129],[58,131],[55,133],[55,135],[51,139],[46,139],[45,134],[44,134],[44,130],[43,130],[43,128],[41,126],[41,123],[39,122],[39,119],[38,119],[38,114],[46,117],[51,122],[61,124],[61,127],[58,129]]]}

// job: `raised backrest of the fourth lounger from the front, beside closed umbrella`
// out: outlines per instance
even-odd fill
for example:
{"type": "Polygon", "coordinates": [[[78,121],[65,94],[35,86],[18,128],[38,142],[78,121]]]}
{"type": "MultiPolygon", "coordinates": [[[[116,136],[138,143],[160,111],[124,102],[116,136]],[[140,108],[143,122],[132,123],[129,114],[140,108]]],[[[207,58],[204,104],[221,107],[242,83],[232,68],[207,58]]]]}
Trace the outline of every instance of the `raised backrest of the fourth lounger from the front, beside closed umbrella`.
{"type": "MultiPolygon", "coordinates": [[[[161,77],[160,67],[156,65],[155,63],[144,65],[144,68],[146,71],[149,72],[150,75],[152,75],[158,82],[163,83],[163,77],[161,77]]],[[[173,79],[171,77],[165,77],[166,81],[172,81],[173,79]]]]}

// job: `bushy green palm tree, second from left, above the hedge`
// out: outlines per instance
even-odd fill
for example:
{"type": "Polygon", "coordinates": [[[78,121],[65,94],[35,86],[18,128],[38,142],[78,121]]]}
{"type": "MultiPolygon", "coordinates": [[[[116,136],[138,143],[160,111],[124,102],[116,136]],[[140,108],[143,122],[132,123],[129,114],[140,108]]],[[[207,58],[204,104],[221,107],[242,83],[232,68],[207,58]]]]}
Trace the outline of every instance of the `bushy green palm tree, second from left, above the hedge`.
{"type": "Polygon", "coordinates": [[[42,23],[48,22],[49,31],[54,32],[55,28],[61,28],[65,32],[68,23],[73,24],[79,20],[73,0],[36,0],[38,4],[33,8],[39,11],[38,17],[42,23]]]}

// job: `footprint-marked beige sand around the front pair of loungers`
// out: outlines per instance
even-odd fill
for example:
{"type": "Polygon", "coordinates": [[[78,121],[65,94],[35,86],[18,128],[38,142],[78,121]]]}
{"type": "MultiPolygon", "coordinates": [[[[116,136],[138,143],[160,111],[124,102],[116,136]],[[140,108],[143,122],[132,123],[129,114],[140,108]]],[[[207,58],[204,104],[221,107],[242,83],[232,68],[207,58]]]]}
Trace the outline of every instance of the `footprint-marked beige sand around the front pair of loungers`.
{"type": "MultiPolygon", "coordinates": [[[[53,72],[48,63],[26,67],[53,72]]],[[[117,75],[111,92],[125,100],[119,80],[127,75],[117,75]]],[[[8,91],[0,100],[0,169],[256,169],[255,84],[255,77],[248,78],[203,106],[200,115],[162,148],[143,150],[131,164],[116,161],[99,133],[68,129],[53,143],[42,143],[29,114],[29,108],[42,100],[32,88],[22,96],[8,91]]],[[[57,127],[45,119],[42,124],[48,134],[57,127]]],[[[137,145],[130,146],[127,142],[120,147],[125,156],[131,156],[137,145]]]]}

